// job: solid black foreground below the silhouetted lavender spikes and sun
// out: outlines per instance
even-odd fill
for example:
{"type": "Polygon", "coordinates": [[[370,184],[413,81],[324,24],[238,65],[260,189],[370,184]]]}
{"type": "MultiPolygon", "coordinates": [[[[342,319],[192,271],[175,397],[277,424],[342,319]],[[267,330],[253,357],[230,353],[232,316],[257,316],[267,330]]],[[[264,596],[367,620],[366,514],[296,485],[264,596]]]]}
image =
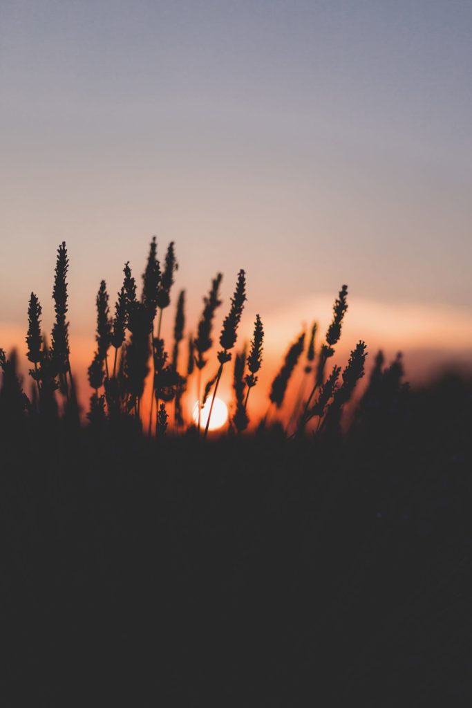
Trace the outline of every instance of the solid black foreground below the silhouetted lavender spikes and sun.
{"type": "Polygon", "coordinates": [[[1,705],[468,705],[471,401],[344,442],[4,435],[1,705]]]}

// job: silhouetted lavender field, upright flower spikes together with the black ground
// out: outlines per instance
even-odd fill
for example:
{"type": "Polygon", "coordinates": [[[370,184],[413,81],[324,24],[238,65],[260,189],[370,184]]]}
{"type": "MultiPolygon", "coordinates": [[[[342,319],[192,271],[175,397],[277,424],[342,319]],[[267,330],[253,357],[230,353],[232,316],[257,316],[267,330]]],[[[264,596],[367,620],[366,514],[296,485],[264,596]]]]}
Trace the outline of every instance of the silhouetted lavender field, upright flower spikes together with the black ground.
{"type": "Polygon", "coordinates": [[[86,417],[65,244],[50,343],[30,297],[31,385],[0,350],[1,703],[468,704],[471,380],[410,389],[401,358],[379,352],[356,395],[365,343],[330,367],[343,286],[321,346],[315,323],[289,344],[254,419],[264,329],[257,316],[237,348],[244,271],[213,360],[221,274],[192,335],[178,293],[166,343],[175,268],[173,244],[161,265],[153,239],[139,294],[128,264],[113,312],[100,284],[86,417]],[[202,411],[224,367],[234,406],[212,435],[202,411]]]}

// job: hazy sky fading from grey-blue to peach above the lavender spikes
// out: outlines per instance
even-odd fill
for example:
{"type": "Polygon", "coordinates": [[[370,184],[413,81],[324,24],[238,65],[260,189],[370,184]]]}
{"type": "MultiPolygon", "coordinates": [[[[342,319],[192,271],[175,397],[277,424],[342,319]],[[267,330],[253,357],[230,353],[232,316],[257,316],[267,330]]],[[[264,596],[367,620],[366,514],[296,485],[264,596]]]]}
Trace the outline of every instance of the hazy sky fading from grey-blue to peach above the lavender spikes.
{"type": "Polygon", "coordinates": [[[0,0],[0,339],[65,240],[86,351],[156,234],[194,329],[245,268],[274,360],[344,282],[355,341],[472,360],[471,67],[465,0],[0,0]]]}

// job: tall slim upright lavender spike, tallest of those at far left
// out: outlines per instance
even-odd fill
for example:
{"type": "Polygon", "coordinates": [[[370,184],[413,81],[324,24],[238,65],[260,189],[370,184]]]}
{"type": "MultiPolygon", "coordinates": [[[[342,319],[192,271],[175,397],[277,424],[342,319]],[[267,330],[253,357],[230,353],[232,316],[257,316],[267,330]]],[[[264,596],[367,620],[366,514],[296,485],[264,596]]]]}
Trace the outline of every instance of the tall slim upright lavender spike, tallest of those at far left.
{"type": "Polygon", "coordinates": [[[67,314],[67,270],[69,260],[65,241],[57,249],[56,268],[54,270],[54,312],[56,321],[52,327],[52,357],[59,374],[65,374],[69,369],[69,323],[67,314]]]}

